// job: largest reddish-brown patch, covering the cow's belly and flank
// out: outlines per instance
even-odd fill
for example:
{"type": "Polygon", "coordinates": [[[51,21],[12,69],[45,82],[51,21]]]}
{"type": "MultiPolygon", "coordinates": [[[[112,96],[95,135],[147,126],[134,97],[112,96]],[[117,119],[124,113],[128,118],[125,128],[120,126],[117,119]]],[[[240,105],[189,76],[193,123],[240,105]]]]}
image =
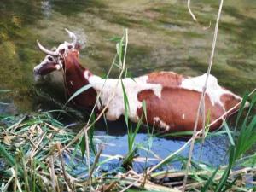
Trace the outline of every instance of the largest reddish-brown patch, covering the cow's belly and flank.
{"type": "MultiPolygon", "coordinates": [[[[161,91],[161,97],[154,95],[153,90],[142,90],[137,98],[140,102],[146,102],[147,119],[149,125],[155,125],[160,128],[160,122],[154,118],[159,118],[168,125],[166,131],[193,131],[195,125],[195,116],[199,105],[201,93],[194,90],[185,90],[175,87],[164,87],[161,91]]],[[[206,117],[210,115],[210,122],[218,119],[224,110],[218,104],[212,106],[209,96],[206,96],[206,117]]],[[[143,115],[143,108],[137,109],[138,116],[143,115]]],[[[203,119],[200,118],[197,129],[201,129],[203,119]]],[[[222,124],[222,120],[210,127],[210,130],[216,130],[222,124]]]]}

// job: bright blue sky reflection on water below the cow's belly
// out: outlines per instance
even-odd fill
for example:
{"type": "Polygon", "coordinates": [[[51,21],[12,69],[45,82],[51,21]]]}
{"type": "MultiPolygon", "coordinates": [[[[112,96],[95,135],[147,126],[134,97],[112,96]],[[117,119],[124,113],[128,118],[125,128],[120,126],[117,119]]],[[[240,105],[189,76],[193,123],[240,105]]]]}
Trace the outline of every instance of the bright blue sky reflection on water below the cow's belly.
{"type": "MultiPolygon", "coordinates": [[[[113,171],[114,169],[119,169],[121,166],[121,157],[125,156],[128,153],[127,148],[127,136],[119,136],[119,137],[104,137],[105,132],[96,131],[96,136],[100,137],[102,142],[104,143],[101,161],[107,160],[112,157],[112,160],[107,160],[107,163],[101,166],[101,170],[104,172],[113,171]],[[113,158],[115,157],[115,158],[113,158]]],[[[160,160],[164,160],[168,155],[177,151],[177,149],[182,148],[184,141],[176,141],[176,140],[166,140],[165,138],[154,137],[153,143],[154,145],[150,148],[149,153],[147,153],[148,149],[148,136],[146,134],[138,134],[136,137],[136,143],[139,145],[139,150],[137,151],[138,157],[133,162],[133,169],[136,172],[143,172],[145,170],[145,166],[154,166],[160,162],[160,160]],[[147,164],[145,165],[145,157],[148,157],[147,164]]],[[[207,139],[207,141],[203,144],[201,148],[201,143],[195,143],[195,153],[193,154],[193,160],[196,162],[203,162],[208,166],[218,166],[224,165],[227,163],[227,148],[228,148],[228,137],[217,136],[207,139]]],[[[188,157],[189,148],[183,150],[181,154],[177,155],[177,159],[173,158],[172,164],[166,164],[168,169],[179,170],[183,169],[186,165],[183,165],[183,161],[181,161],[182,157],[188,157]],[[178,158],[180,157],[180,158],[178,158]]],[[[67,156],[67,160],[69,160],[67,156]]],[[[73,172],[76,175],[85,176],[86,166],[85,162],[76,161],[74,163],[76,166],[73,167],[73,172]]]]}

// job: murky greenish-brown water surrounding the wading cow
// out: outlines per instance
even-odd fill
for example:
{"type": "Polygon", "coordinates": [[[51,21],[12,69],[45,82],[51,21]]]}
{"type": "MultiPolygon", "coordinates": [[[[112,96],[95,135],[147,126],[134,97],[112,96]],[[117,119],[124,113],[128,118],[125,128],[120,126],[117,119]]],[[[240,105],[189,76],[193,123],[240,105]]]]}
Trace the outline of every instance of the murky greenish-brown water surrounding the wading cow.
{"type": "MultiPolygon", "coordinates": [[[[218,1],[194,1],[191,9],[197,23],[191,19],[186,1],[1,0],[0,90],[11,92],[1,93],[0,97],[1,102],[11,105],[0,104],[0,113],[56,108],[55,103],[63,102],[55,84],[34,84],[32,68],[44,57],[36,39],[49,48],[57,46],[69,40],[65,27],[78,34],[81,44],[86,39],[81,61],[98,75],[106,74],[113,60],[115,43],[110,39],[120,36],[125,27],[129,29],[126,65],[133,76],[158,70],[191,76],[205,73],[218,1]]],[[[224,1],[212,74],[220,84],[240,95],[255,87],[255,29],[254,0],[224,1]]],[[[117,74],[115,70],[111,75],[117,74]]],[[[123,134],[109,140],[116,147],[109,146],[105,152],[125,154],[126,137],[123,134]]],[[[147,135],[142,133],[137,140],[143,142],[147,135]]],[[[182,144],[155,138],[153,149],[164,158],[182,144]]],[[[227,145],[226,137],[209,139],[202,159],[218,164],[227,145]]]]}

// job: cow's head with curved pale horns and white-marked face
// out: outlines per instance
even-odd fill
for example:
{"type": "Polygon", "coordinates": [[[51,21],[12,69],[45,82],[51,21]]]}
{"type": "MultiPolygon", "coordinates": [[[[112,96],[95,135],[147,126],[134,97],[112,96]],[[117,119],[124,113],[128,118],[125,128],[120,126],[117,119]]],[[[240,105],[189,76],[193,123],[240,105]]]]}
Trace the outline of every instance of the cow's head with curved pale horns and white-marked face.
{"type": "Polygon", "coordinates": [[[73,39],[73,42],[68,43],[65,41],[63,44],[60,44],[55,50],[45,49],[44,46],[37,41],[39,49],[41,49],[46,54],[46,56],[44,57],[44,60],[41,61],[41,63],[34,67],[34,74],[36,76],[44,76],[55,70],[60,70],[61,68],[63,68],[63,61],[65,59],[65,56],[70,51],[77,50],[77,52],[79,53],[80,46],[77,43],[76,35],[73,32],[68,31],[67,29],[65,30],[68,33],[69,37],[73,39]]]}

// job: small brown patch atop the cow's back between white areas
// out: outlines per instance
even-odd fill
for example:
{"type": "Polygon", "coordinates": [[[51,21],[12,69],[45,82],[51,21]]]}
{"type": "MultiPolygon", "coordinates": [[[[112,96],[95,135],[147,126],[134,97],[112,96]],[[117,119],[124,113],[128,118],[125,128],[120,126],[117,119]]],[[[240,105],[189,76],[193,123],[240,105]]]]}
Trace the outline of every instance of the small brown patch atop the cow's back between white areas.
{"type": "Polygon", "coordinates": [[[148,74],[148,83],[162,84],[163,86],[179,86],[182,83],[183,76],[177,73],[156,72],[148,74]]]}

